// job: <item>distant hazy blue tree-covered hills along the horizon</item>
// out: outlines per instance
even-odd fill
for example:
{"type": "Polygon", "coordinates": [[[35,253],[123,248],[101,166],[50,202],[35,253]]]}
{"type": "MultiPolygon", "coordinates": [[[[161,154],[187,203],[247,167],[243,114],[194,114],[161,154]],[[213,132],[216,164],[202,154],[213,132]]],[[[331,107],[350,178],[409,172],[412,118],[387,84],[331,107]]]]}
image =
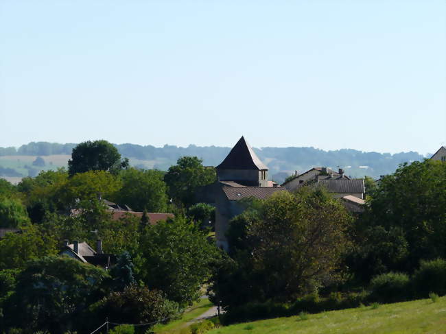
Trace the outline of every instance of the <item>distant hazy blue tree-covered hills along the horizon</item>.
{"type": "MultiPolygon", "coordinates": [[[[0,176],[28,176],[35,173],[34,169],[54,169],[58,164],[47,165],[46,168],[23,164],[16,156],[71,155],[76,144],[32,142],[15,147],[0,147],[0,176]],[[11,162],[12,161],[12,162],[11,162]]],[[[143,168],[167,170],[181,156],[198,156],[204,165],[216,166],[222,162],[231,147],[196,146],[177,147],[164,145],[119,144],[115,145],[119,153],[130,159],[130,165],[143,168]]],[[[390,174],[400,163],[422,160],[424,157],[417,152],[401,152],[397,154],[362,152],[358,150],[341,149],[334,151],[318,150],[314,147],[262,147],[254,149],[259,158],[270,168],[270,178],[283,182],[287,175],[294,171],[303,172],[316,166],[327,166],[333,169],[344,168],[345,172],[354,177],[390,174]]],[[[62,162],[62,165],[66,164],[62,162]]]]}

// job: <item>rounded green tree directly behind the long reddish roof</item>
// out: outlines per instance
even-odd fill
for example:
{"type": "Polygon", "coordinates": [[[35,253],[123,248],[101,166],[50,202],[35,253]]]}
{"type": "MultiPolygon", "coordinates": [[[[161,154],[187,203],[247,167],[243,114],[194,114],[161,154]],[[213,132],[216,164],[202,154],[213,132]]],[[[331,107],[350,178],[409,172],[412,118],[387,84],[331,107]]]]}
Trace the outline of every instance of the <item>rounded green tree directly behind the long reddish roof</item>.
{"type": "Polygon", "coordinates": [[[164,173],[156,169],[129,168],[121,171],[122,187],[114,199],[127,204],[134,211],[165,212],[167,210],[167,187],[164,173]]]}

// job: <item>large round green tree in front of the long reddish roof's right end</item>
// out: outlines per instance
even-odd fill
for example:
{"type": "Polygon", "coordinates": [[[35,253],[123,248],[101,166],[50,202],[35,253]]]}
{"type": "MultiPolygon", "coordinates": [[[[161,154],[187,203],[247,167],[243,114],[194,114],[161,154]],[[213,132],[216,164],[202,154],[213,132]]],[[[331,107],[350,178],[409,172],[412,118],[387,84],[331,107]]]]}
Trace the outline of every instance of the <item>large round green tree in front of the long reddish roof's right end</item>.
{"type": "Polygon", "coordinates": [[[139,276],[151,289],[185,306],[200,296],[209,264],[218,255],[207,232],[183,217],[149,226],[141,237],[143,265],[139,276]]]}

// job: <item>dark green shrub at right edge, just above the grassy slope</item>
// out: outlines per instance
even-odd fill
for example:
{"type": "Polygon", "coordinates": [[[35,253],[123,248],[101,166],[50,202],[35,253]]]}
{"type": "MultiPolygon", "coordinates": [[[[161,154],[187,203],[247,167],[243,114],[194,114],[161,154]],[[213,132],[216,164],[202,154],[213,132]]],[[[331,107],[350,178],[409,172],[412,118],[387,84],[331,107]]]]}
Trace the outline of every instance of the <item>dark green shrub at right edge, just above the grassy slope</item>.
{"type": "Polygon", "coordinates": [[[446,294],[446,261],[436,259],[432,261],[421,261],[420,269],[413,276],[415,295],[427,298],[430,292],[439,296],[446,294]]]}

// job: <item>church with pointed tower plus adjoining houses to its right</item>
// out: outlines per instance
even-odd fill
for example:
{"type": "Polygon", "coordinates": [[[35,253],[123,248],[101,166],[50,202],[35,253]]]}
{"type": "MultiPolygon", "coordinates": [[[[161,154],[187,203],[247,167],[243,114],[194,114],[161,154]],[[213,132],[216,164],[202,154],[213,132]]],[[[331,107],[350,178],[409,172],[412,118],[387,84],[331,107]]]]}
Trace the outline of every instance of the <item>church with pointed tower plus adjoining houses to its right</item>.
{"type": "Polygon", "coordinates": [[[342,169],[333,171],[327,167],[315,167],[279,185],[268,181],[268,167],[242,136],[222,163],[215,167],[218,181],[204,187],[208,202],[215,205],[215,239],[217,246],[228,250],[226,231],[230,220],[243,212],[239,205],[243,198],[269,198],[280,191],[296,191],[299,187],[322,186],[336,198],[342,198],[353,212],[362,211],[364,205],[364,180],[352,180],[342,169]],[[210,201],[209,201],[210,199],[210,201]]]}

